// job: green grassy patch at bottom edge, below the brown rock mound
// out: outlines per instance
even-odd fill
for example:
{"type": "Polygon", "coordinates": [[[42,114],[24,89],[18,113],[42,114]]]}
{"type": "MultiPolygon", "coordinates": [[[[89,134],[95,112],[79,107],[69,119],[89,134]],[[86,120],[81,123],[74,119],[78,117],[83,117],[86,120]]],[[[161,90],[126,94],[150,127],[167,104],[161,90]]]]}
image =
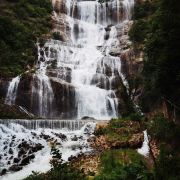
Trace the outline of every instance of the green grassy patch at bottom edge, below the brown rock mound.
{"type": "Polygon", "coordinates": [[[152,179],[141,155],[133,150],[107,151],[101,156],[100,174],[95,180],[152,179]]]}

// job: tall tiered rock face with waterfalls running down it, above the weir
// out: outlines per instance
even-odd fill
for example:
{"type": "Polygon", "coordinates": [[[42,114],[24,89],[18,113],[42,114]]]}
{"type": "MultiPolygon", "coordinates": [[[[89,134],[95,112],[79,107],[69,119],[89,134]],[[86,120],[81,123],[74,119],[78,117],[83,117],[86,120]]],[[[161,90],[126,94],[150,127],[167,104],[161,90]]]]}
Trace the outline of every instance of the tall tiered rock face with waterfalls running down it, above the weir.
{"type": "Polygon", "coordinates": [[[129,52],[134,1],[53,0],[52,4],[52,31],[59,40],[37,43],[36,72],[20,77],[18,87],[11,87],[15,100],[8,103],[40,117],[121,115],[128,106],[121,57],[129,52]]]}

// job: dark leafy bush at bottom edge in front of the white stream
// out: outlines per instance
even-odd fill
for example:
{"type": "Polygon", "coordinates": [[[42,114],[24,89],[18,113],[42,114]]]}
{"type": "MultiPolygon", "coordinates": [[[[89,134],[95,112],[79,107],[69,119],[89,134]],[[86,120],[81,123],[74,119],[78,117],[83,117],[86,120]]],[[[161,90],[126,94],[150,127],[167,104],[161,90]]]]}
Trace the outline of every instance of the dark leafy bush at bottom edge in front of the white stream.
{"type": "Polygon", "coordinates": [[[25,180],[85,180],[83,171],[74,168],[68,163],[64,163],[61,153],[56,148],[52,148],[51,170],[45,174],[33,173],[25,180]]]}

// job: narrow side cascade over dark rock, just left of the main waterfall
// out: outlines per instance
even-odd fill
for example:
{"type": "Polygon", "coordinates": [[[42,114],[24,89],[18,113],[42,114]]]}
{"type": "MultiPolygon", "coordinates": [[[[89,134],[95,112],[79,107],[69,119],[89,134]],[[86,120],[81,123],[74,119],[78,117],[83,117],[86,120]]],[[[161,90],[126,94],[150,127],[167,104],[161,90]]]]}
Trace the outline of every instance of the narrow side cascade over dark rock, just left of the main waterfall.
{"type": "Polygon", "coordinates": [[[32,104],[37,104],[36,114],[40,117],[51,117],[52,112],[52,102],[54,98],[53,90],[49,77],[46,75],[46,69],[50,59],[46,56],[44,48],[41,48],[39,43],[38,47],[38,70],[33,75],[33,85],[32,85],[32,104]]]}

